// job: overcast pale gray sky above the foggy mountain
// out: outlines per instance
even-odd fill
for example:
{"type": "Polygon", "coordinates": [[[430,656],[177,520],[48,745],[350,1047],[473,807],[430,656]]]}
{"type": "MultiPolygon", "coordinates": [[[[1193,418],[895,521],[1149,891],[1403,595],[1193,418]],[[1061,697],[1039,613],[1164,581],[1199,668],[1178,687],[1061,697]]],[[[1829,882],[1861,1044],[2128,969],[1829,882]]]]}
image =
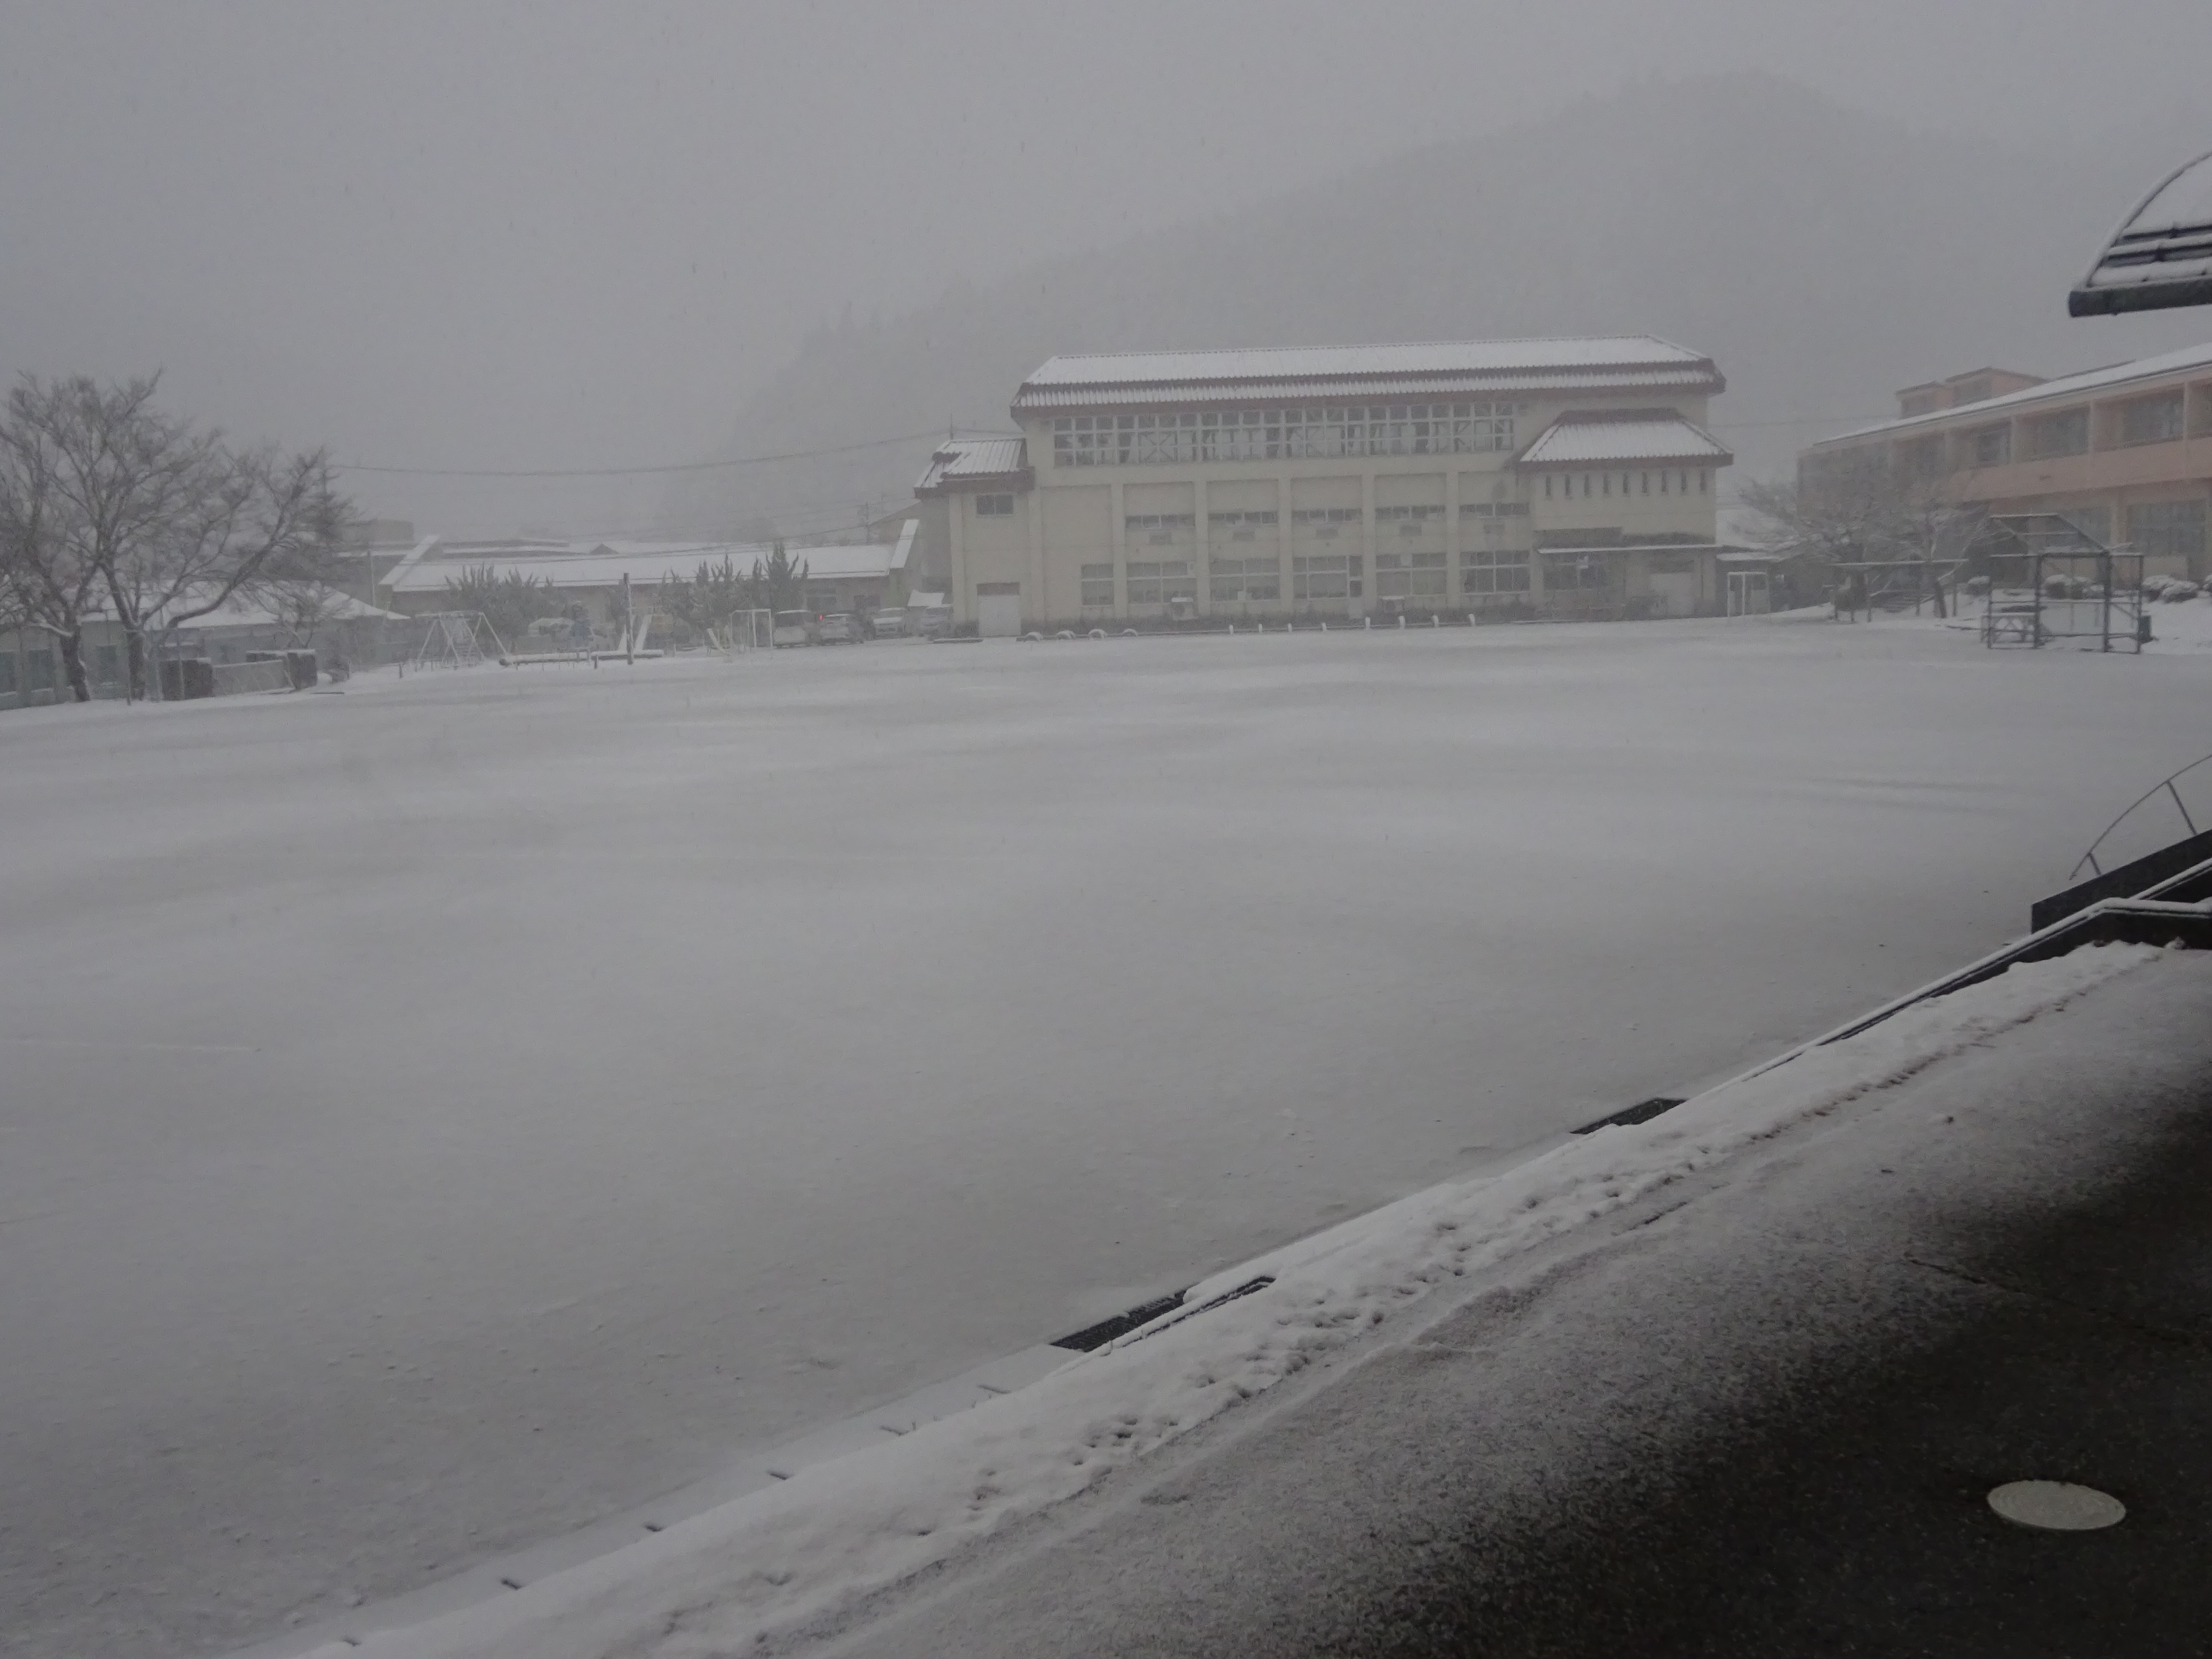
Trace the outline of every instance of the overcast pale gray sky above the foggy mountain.
{"type": "MultiPolygon", "coordinates": [[[[0,0],[0,367],[161,365],[175,407],[347,460],[690,460],[847,305],[1630,77],[2055,144],[2172,126],[2208,62],[2205,0],[0,0]]],[[[349,482],[456,531],[650,511],[349,482]]]]}

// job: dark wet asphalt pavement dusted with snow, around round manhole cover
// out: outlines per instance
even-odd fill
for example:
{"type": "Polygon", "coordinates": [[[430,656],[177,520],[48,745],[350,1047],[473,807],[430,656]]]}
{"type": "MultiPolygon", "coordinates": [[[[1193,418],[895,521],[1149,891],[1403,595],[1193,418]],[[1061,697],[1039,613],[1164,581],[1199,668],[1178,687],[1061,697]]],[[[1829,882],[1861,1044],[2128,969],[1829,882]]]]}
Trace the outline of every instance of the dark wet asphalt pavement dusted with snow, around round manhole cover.
{"type": "Polygon", "coordinates": [[[2208,1652],[2208,1013],[2170,953],[790,1646],[2208,1652]],[[2015,1480],[2126,1517],[2015,1526],[2015,1480]]]}

